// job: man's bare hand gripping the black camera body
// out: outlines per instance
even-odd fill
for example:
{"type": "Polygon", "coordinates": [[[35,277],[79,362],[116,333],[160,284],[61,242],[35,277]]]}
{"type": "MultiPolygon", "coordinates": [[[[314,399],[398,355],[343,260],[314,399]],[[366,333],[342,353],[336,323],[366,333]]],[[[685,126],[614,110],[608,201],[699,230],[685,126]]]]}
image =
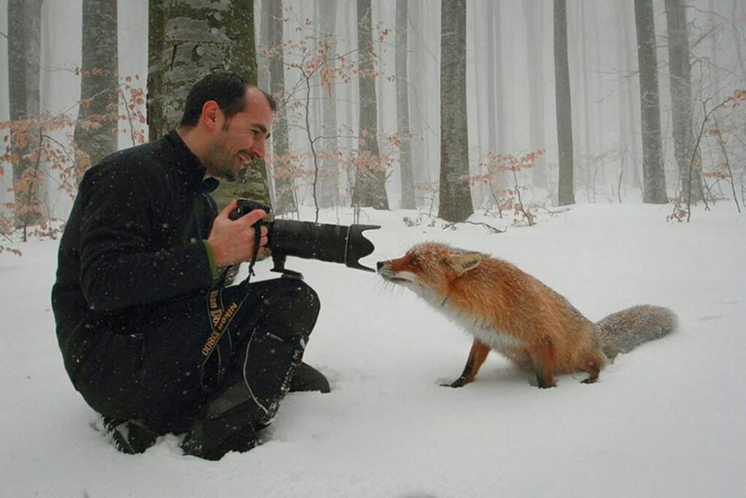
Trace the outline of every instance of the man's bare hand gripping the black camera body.
{"type": "MultiPolygon", "coordinates": [[[[218,268],[234,265],[242,261],[248,261],[254,254],[254,224],[266,218],[267,213],[263,209],[254,209],[248,215],[237,220],[231,220],[228,215],[236,209],[236,200],[233,199],[220,212],[213,221],[207,244],[213,250],[215,265],[218,268]]],[[[267,243],[267,227],[261,227],[260,250],[267,243]]]]}

